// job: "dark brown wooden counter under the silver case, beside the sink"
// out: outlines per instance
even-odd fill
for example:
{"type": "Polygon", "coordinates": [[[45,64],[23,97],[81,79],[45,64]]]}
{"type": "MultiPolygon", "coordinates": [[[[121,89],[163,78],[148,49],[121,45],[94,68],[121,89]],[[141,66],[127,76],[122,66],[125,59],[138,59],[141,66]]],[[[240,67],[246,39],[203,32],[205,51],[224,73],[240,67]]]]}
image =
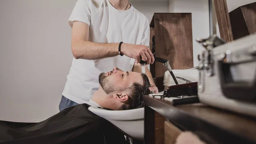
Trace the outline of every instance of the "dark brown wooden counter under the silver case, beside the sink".
{"type": "Polygon", "coordinates": [[[255,118],[201,103],[173,106],[151,96],[144,96],[144,102],[145,144],[164,144],[166,120],[179,130],[192,131],[208,144],[256,143],[255,118]]]}

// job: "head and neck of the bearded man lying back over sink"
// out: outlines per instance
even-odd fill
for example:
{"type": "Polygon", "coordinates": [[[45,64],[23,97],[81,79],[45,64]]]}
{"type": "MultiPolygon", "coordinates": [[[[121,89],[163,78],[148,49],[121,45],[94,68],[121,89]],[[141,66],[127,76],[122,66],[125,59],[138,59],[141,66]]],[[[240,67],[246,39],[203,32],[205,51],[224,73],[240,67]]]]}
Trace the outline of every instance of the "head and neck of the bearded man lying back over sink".
{"type": "Polygon", "coordinates": [[[111,110],[143,107],[143,95],[150,93],[150,83],[144,73],[124,72],[118,68],[101,73],[99,84],[99,90],[93,94],[88,104],[111,110]]]}

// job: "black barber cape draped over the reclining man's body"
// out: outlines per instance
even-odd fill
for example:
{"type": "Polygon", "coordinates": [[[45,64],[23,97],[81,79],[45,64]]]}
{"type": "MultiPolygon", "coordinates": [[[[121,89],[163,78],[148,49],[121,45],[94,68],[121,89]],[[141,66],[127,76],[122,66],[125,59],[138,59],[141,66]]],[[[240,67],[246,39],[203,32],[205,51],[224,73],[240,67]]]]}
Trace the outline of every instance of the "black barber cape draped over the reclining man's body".
{"type": "Polygon", "coordinates": [[[124,135],[88,107],[78,104],[39,123],[0,121],[0,144],[125,144],[124,135]]]}

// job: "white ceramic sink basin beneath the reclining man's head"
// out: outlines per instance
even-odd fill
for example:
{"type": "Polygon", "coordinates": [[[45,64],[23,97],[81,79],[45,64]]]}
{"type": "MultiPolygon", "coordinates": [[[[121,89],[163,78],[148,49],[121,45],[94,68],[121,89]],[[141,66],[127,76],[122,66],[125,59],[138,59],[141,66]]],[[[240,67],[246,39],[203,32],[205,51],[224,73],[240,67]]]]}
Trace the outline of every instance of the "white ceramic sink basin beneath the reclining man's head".
{"type": "Polygon", "coordinates": [[[110,121],[125,136],[138,140],[144,139],[144,107],[133,110],[105,110],[89,107],[88,110],[110,121]]]}

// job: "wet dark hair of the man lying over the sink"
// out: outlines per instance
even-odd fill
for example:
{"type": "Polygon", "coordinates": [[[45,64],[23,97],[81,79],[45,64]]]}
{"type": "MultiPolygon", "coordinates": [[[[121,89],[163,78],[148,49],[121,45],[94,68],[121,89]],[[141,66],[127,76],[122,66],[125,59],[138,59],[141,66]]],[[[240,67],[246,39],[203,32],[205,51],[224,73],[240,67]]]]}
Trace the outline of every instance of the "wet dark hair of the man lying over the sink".
{"type": "Polygon", "coordinates": [[[128,102],[121,107],[122,110],[136,109],[144,106],[143,96],[150,94],[149,87],[151,85],[148,80],[148,76],[145,73],[141,73],[141,76],[143,84],[138,82],[133,83],[129,88],[129,91],[131,92],[128,102]]]}

